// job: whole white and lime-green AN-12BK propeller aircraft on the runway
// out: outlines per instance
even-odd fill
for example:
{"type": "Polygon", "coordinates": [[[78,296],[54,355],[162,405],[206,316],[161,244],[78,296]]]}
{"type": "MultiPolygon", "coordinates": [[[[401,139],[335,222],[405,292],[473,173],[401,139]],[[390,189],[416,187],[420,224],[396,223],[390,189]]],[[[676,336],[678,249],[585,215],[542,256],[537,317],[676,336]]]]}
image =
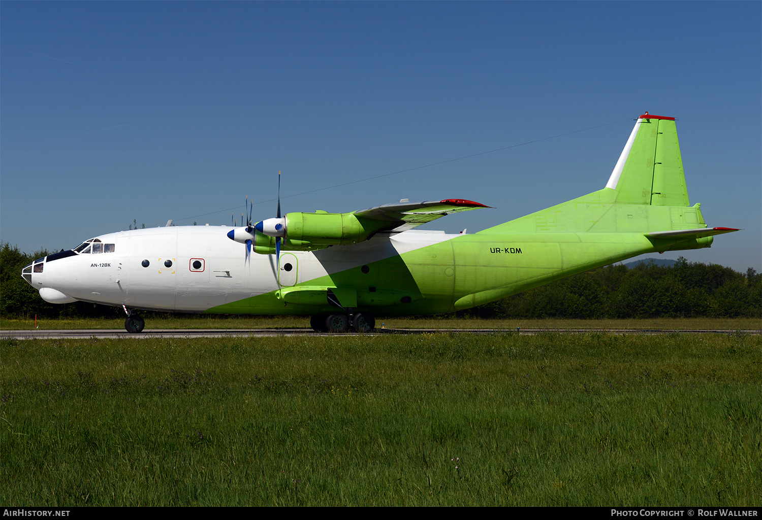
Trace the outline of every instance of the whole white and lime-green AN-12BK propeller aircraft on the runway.
{"type": "MultiPolygon", "coordinates": [[[[280,184],[280,182],[279,182],[280,184]]],[[[279,196],[280,199],[280,196],[279,196]]],[[[287,213],[245,226],[136,229],[35,260],[21,276],[52,303],[219,314],[303,314],[315,330],[374,327],[374,314],[466,309],[639,254],[698,249],[674,117],[639,116],[606,187],[475,234],[415,230],[463,199],[351,213],[287,213]],[[255,254],[251,254],[251,250],[255,254]]]]}

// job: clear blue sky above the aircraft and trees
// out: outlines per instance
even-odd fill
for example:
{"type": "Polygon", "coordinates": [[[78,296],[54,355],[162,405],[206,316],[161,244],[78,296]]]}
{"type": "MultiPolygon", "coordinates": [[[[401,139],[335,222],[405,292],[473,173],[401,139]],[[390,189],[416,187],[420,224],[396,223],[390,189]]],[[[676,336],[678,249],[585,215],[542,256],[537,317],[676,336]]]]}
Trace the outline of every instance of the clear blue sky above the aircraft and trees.
{"type": "Polygon", "coordinates": [[[762,271],[760,26],[760,2],[0,2],[0,239],[230,225],[247,195],[257,221],[279,170],[284,212],[464,198],[496,209],[427,228],[479,231],[604,187],[648,110],[707,224],[744,228],[663,257],[762,271]]]}

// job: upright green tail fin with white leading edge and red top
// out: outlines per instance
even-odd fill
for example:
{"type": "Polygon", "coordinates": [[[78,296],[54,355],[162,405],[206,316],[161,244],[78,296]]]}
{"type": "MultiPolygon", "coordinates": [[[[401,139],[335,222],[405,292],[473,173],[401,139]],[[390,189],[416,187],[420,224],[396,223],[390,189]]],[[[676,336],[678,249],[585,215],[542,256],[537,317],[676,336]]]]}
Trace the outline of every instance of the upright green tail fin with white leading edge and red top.
{"type": "Polygon", "coordinates": [[[638,118],[606,187],[617,203],[690,206],[674,117],[638,118]]]}

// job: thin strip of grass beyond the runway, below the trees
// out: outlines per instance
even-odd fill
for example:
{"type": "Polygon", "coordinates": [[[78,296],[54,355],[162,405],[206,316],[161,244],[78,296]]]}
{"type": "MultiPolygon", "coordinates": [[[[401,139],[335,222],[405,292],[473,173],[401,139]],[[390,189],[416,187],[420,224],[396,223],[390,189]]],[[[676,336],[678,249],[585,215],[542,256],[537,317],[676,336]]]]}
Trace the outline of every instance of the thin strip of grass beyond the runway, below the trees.
{"type": "MultiPolygon", "coordinates": [[[[760,330],[762,321],[755,318],[648,318],[629,320],[483,320],[477,318],[442,317],[379,317],[376,325],[386,328],[421,329],[469,329],[495,330],[523,329],[671,329],[671,330],[760,330]]],[[[34,319],[0,318],[0,330],[31,330],[34,319]]],[[[59,329],[117,329],[124,328],[122,317],[107,318],[58,318],[37,321],[40,330],[59,329]]],[[[259,329],[259,328],[309,328],[309,317],[304,316],[253,316],[228,317],[208,314],[156,314],[146,316],[146,330],[157,329],[259,329]]]]}

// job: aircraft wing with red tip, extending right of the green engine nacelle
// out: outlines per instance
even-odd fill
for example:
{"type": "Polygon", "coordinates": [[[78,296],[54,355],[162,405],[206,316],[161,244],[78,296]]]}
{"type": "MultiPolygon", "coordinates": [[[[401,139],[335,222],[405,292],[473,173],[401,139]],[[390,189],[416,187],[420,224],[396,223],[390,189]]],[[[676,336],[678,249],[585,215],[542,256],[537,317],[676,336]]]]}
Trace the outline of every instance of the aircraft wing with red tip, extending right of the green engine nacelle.
{"type": "Polygon", "coordinates": [[[353,212],[363,219],[389,222],[383,231],[407,231],[426,222],[439,219],[450,213],[469,211],[471,209],[491,208],[481,203],[465,199],[427,200],[420,203],[399,202],[383,204],[375,208],[359,209],[353,212]]]}

